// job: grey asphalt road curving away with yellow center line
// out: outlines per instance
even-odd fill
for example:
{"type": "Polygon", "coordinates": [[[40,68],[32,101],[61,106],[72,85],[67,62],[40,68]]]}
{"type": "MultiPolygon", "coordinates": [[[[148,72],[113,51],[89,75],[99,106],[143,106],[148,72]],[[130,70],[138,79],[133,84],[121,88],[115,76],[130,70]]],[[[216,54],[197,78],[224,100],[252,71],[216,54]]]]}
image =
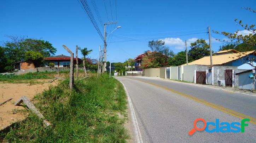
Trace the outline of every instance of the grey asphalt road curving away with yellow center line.
{"type": "MultiPolygon", "coordinates": [[[[143,142],[256,142],[256,97],[206,87],[141,77],[116,77],[129,93],[143,142]],[[240,122],[244,133],[196,131],[194,121],[240,122]]],[[[202,128],[203,122],[197,127],[202,128]]],[[[210,126],[209,129],[215,129],[210,126]]]]}

